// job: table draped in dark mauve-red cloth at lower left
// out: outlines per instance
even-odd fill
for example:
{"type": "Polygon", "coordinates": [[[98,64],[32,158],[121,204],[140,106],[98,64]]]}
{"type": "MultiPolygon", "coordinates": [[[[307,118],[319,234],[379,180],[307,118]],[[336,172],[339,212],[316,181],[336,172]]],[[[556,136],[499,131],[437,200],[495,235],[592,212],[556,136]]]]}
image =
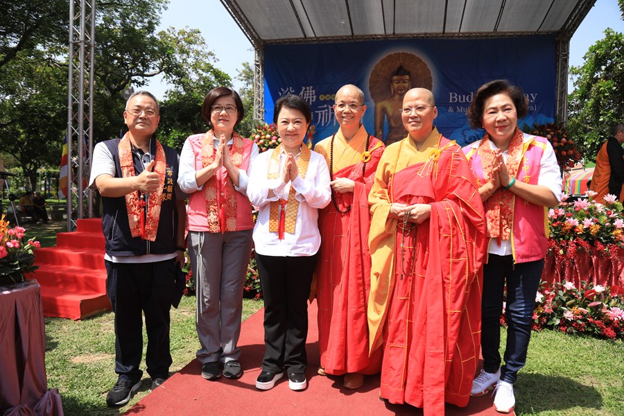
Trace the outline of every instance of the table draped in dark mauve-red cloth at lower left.
{"type": "Polygon", "coordinates": [[[0,415],[63,415],[57,389],[48,390],[40,286],[28,280],[0,286],[0,415]]]}

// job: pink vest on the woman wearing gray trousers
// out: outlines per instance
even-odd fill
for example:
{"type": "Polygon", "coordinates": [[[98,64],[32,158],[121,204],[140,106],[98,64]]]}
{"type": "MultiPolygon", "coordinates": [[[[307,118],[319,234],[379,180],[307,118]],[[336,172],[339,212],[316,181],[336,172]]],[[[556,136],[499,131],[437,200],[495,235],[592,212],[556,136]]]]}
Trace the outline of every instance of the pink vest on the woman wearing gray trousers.
{"type": "MultiPolygon", "coordinates": [[[[193,135],[189,138],[189,144],[193,148],[195,155],[195,170],[200,170],[202,166],[202,137],[203,134],[193,135]]],[[[243,163],[239,168],[249,173],[249,157],[254,142],[249,139],[243,139],[243,163]]],[[[227,180],[227,169],[221,167],[216,173],[217,187],[216,196],[219,209],[225,209],[225,182],[227,180]]],[[[208,231],[208,220],[206,214],[206,187],[200,191],[191,193],[189,196],[189,207],[187,207],[189,230],[191,231],[208,231]]],[[[252,206],[245,193],[236,192],[236,231],[243,229],[252,229],[254,227],[254,219],[252,217],[252,206]]],[[[221,213],[218,213],[221,214],[221,213]]],[[[225,214],[225,213],[224,213],[225,214]]]]}

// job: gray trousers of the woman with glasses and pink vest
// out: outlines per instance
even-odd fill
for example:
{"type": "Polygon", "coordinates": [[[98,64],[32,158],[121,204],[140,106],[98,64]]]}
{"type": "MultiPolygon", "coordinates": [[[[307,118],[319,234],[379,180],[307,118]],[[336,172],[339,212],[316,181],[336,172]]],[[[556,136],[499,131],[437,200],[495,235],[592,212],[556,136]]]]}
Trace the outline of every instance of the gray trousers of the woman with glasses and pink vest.
{"type": "Polygon", "coordinates": [[[252,250],[252,229],[189,232],[189,255],[197,292],[196,329],[202,363],[238,360],[243,284],[252,250]]]}

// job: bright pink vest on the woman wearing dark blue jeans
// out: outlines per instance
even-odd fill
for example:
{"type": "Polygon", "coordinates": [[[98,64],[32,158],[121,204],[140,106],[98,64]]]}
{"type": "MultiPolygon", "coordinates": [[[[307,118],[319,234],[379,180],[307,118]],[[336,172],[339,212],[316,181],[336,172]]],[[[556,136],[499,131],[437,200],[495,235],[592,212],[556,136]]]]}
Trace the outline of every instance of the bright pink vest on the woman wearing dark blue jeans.
{"type": "MultiPolygon", "coordinates": [[[[544,137],[532,136],[530,141],[526,141],[527,135],[525,134],[524,137],[523,154],[516,180],[528,184],[537,184],[541,156],[544,155],[547,140],[544,137]]],[[[483,174],[481,157],[477,151],[479,143],[480,141],[476,141],[463,150],[480,184],[484,184],[485,175],[483,174]]],[[[548,231],[547,208],[532,204],[516,196],[514,221],[511,229],[514,262],[526,263],[527,261],[544,259],[548,250],[548,231]]]]}

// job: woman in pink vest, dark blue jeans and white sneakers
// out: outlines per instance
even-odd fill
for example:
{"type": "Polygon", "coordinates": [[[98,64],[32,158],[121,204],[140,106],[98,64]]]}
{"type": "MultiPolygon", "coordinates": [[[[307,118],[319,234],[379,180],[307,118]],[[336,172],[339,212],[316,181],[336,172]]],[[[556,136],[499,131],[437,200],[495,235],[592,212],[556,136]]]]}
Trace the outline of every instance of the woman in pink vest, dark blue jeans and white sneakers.
{"type": "Polygon", "coordinates": [[[481,304],[483,370],[473,381],[471,395],[485,395],[495,387],[494,408],[500,413],[514,409],[513,383],[526,363],[546,256],[545,207],[554,207],[561,198],[553,147],[544,137],[525,135],[518,128],[527,110],[519,87],[494,80],[477,90],[467,114],[472,128],[485,129],[483,139],[464,151],[479,181],[489,237],[481,304]],[[501,367],[499,318],[505,285],[508,329],[501,367]]]}

